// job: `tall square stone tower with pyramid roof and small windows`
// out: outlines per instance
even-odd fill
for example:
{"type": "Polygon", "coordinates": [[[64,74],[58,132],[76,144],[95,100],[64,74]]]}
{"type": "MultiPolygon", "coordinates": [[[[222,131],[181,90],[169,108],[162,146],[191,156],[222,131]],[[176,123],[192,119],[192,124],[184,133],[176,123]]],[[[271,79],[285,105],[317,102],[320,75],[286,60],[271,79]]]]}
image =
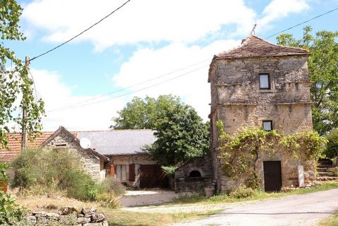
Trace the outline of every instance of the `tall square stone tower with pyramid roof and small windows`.
{"type": "MultiPolygon", "coordinates": [[[[215,122],[218,120],[230,135],[252,126],[284,134],[312,131],[308,56],[309,52],[304,49],[271,44],[250,35],[236,49],[213,57],[208,74],[211,83],[209,117],[218,192],[240,184],[220,171],[222,161],[216,151],[219,132],[215,122]]],[[[256,171],[261,186],[267,191],[271,190],[271,183],[272,190],[279,190],[299,186],[301,176],[305,183],[315,177],[313,162],[300,163],[282,151],[273,156],[260,156],[256,171]],[[303,165],[301,172],[299,165],[303,165]]]]}

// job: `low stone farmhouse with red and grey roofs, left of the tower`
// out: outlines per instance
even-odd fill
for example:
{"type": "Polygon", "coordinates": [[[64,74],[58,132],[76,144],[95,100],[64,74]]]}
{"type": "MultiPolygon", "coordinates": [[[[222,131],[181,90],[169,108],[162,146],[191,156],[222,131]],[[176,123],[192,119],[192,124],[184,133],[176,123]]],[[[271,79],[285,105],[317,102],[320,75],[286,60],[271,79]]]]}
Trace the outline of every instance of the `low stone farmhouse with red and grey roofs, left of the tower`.
{"type": "MultiPolygon", "coordinates": [[[[160,165],[151,160],[143,146],[154,143],[152,130],[73,131],[59,127],[43,132],[27,148],[70,149],[82,156],[84,170],[96,181],[112,176],[130,187],[168,187],[168,177],[160,165]],[[80,140],[89,139],[90,148],[83,149],[80,140]]],[[[0,150],[0,161],[11,162],[21,149],[21,134],[8,134],[7,150],[0,150]]]]}

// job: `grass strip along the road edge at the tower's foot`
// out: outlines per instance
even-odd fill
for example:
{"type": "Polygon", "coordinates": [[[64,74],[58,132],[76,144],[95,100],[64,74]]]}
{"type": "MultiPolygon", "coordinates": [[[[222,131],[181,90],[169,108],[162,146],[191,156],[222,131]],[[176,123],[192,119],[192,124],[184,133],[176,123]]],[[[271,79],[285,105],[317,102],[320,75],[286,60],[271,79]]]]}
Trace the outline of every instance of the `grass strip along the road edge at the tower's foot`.
{"type": "Polygon", "coordinates": [[[263,191],[255,191],[251,196],[238,198],[238,196],[232,196],[227,194],[218,194],[212,196],[211,198],[206,198],[203,194],[195,194],[192,196],[180,196],[177,199],[173,200],[175,204],[182,203],[201,203],[201,204],[217,204],[217,203],[233,203],[237,201],[251,201],[251,200],[260,200],[260,199],[269,199],[269,198],[280,198],[282,196],[289,196],[292,194],[308,194],[311,192],[320,192],[329,189],[338,188],[338,182],[325,182],[323,184],[317,184],[310,188],[294,189],[288,192],[271,192],[266,193],[263,191]]]}

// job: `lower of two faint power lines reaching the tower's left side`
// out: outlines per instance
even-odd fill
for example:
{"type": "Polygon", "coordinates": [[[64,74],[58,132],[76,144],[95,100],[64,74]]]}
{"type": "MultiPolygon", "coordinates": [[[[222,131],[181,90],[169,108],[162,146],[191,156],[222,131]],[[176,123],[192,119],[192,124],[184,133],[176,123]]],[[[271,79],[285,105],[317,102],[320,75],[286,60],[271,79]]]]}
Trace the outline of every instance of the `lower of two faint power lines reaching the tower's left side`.
{"type": "Polygon", "coordinates": [[[64,109],[70,109],[70,108],[80,108],[80,107],[83,107],[83,106],[89,106],[89,105],[93,105],[93,104],[96,104],[96,103],[101,103],[101,102],[111,101],[112,99],[117,99],[117,98],[120,98],[120,97],[122,97],[122,96],[127,96],[127,95],[130,95],[130,94],[134,94],[134,93],[136,93],[136,92],[143,91],[143,90],[145,90],[145,89],[149,89],[149,88],[151,88],[151,87],[156,87],[156,86],[158,86],[158,85],[160,85],[160,84],[163,84],[163,83],[165,83],[165,82],[170,82],[170,81],[175,80],[175,79],[177,79],[177,78],[179,78],[179,77],[183,77],[183,76],[185,76],[185,75],[189,75],[190,73],[193,73],[193,72],[195,72],[195,71],[197,71],[197,70],[201,70],[202,68],[205,68],[206,66],[208,66],[208,64],[207,64],[207,65],[203,65],[203,66],[201,66],[201,67],[199,67],[199,68],[195,68],[194,70],[190,70],[190,71],[187,72],[187,73],[183,73],[183,74],[181,74],[181,75],[177,75],[177,76],[172,77],[172,78],[170,78],[170,79],[168,79],[168,80],[165,80],[165,81],[163,81],[163,82],[158,82],[158,83],[156,83],[156,84],[152,84],[152,85],[150,85],[150,86],[148,86],[148,87],[144,87],[144,88],[142,88],[142,89],[137,89],[137,90],[135,90],[135,91],[133,91],[133,92],[129,92],[129,93],[127,93],[127,94],[121,94],[121,95],[119,95],[119,96],[113,96],[113,97],[108,98],[108,99],[104,99],[104,100],[101,100],[101,101],[95,101],[95,102],[92,102],[92,103],[86,103],[86,104],[82,104],[82,105],[79,105],[79,106],[72,106],[72,107],[68,107],[68,108],[56,108],[56,109],[53,109],[53,110],[51,110],[51,111],[47,111],[47,113],[53,112],[53,111],[61,111],[61,110],[64,110],[64,109]]]}

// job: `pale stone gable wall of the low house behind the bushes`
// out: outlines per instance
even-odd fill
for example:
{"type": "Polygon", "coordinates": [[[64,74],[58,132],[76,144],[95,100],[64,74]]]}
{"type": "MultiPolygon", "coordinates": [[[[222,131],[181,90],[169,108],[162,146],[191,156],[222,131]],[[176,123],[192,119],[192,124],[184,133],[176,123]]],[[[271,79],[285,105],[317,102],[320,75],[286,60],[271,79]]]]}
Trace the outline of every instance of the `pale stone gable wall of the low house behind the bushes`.
{"type": "Polygon", "coordinates": [[[82,157],[84,170],[86,170],[94,180],[104,180],[106,175],[104,161],[94,156],[94,154],[88,150],[82,149],[80,144],[67,132],[61,131],[56,137],[54,137],[54,139],[46,144],[46,148],[69,149],[71,151],[75,151],[82,157]]]}

